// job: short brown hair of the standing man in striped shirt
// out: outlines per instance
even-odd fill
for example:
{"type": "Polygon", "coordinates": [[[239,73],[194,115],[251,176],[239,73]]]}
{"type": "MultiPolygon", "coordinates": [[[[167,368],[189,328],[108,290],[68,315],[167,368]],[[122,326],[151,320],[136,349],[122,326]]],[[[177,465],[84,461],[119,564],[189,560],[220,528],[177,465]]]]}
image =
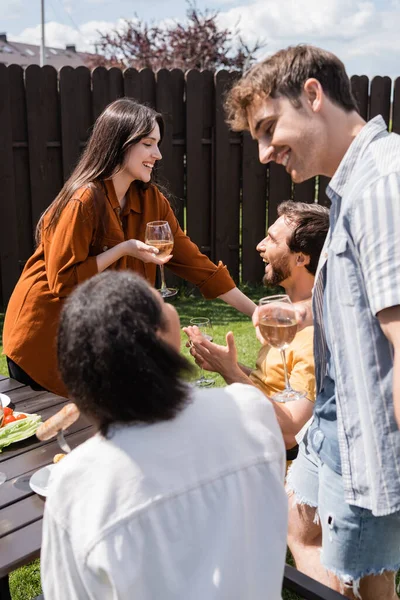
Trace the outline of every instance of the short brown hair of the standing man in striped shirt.
{"type": "Polygon", "coordinates": [[[295,108],[307,79],[317,79],[330,100],[345,112],[358,112],[350,79],[341,60],[332,52],[298,44],[279,50],[254,65],[237,81],[225,98],[227,123],[234,131],[249,128],[247,109],[257,97],[286,96],[295,108]]]}

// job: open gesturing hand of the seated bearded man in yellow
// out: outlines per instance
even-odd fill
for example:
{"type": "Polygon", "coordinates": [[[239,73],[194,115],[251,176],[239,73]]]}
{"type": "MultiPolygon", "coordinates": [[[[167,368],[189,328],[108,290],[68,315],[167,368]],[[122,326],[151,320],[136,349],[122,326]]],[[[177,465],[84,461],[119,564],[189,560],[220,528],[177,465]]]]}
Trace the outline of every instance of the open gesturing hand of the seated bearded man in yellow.
{"type": "Polygon", "coordinates": [[[205,371],[219,373],[227,377],[229,373],[238,368],[237,350],[232,331],[226,334],[226,346],[220,346],[207,340],[195,325],[184,327],[183,331],[189,338],[186,344],[190,347],[190,354],[199,367],[205,371]]]}

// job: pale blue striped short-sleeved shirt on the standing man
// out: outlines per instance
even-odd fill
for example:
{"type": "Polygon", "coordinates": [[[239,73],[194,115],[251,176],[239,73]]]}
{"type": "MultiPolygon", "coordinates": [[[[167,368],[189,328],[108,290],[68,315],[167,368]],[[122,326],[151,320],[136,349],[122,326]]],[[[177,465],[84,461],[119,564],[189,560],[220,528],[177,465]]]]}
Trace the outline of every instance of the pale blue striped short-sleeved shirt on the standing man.
{"type": "Polygon", "coordinates": [[[381,516],[400,510],[393,347],[376,316],[400,304],[400,136],[382,117],[356,136],[327,194],[331,226],[313,291],[317,387],[326,373],[325,290],[346,501],[381,516]]]}

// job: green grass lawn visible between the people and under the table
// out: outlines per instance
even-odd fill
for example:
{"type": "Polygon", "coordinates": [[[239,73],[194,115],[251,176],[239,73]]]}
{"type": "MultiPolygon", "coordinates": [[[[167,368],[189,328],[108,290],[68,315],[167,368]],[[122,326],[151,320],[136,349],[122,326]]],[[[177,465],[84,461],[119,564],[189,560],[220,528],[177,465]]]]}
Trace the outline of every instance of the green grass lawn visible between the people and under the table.
{"type": "MultiPolygon", "coordinates": [[[[262,287],[244,290],[255,302],[266,295],[262,287]]],[[[238,313],[235,309],[227,306],[220,300],[206,301],[199,296],[185,296],[180,294],[178,299],[173,301],[176,306],[182,327],[189,324],[190,319],[194,317],[208,317],[212,321],[214,341],[224,343],[225,335],[228,331],[233,331],[238,347],[239,361],[248,366],[255,364],[259,343],[257,342],[254,329],[248,317],[238,313]]],[[[2,327],[2,317],[0,317],[0,327],[2,327]]],[[[182,332],[182,351],[189,358],[188,349],[185,347],[186,335],[182,332]]],[[[7,375],[7,367],[4,356],[0,357],[0,373],[7,375]]],[[[196,378],[198,373],[193,374],[196,378]]],[[[220,376],[215,377],[217,386],[224,385],[220,376]]],[[[290,561],[290,557],[288,557],[290,561]]],[[[32,564],[17,569],[10,575],[10,589],[13,600],[31,600],[41,594],[40,587],[40,561],[36,560],[32,564]]],[[[292,592],[284,591],[283,600],[297,600],[299,596],[292,592]]]]}

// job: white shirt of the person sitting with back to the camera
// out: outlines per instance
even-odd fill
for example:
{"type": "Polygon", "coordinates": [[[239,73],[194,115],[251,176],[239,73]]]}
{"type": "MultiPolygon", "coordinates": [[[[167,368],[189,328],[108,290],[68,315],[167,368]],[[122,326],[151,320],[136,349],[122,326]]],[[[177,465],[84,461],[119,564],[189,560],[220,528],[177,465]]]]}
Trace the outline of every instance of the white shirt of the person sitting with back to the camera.
{"type": "Polygon", "coordinates": [[[46,600],[278,600],[285,448],[255,387],[194,390],[173,420],[96,435],[53,470],[46,600]]]}

